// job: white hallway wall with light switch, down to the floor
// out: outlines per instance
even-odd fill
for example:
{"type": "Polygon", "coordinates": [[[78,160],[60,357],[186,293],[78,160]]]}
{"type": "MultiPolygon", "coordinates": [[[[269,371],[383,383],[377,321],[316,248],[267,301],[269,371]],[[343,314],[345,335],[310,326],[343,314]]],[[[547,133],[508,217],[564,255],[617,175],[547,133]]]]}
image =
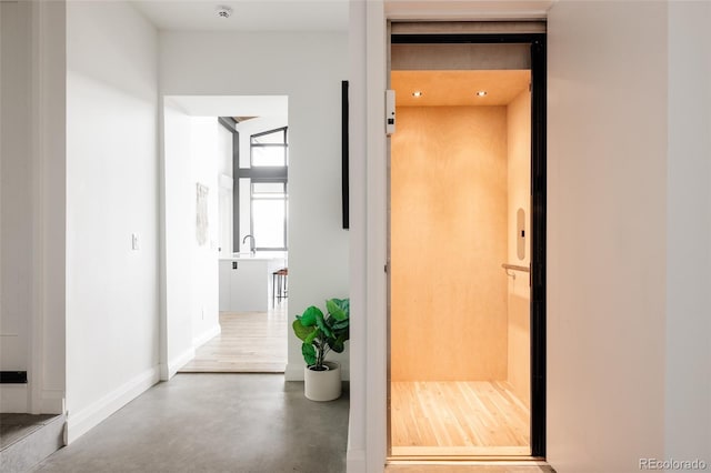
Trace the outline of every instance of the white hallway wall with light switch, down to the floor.
{"type": "Polygon", "coordinates": [[[68,4],[70,442],[159,378],[157,54],[128,3],[68,4]]]}

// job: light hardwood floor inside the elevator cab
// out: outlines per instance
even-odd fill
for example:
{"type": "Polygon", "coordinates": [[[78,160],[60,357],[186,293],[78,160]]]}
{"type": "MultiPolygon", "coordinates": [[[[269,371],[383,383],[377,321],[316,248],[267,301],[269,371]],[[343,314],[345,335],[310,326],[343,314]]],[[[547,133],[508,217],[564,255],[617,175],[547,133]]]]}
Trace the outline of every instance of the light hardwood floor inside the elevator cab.
{"type": "Polygon", "coordinates": [[[392,382],[392,456],[528,456],[530,411],[503,381],[392,382]]]}

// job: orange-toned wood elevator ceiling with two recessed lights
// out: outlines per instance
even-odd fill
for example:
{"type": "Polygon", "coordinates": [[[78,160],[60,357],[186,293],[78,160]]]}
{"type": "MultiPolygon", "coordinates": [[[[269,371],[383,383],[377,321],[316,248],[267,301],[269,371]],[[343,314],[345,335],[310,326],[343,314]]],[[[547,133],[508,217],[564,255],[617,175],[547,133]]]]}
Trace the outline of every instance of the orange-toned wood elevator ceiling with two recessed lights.
{"type": "Polygon", "coordinates": [[[392,71],[391,89],[398,107],[505,105],[528,90],[529,70],[392,71]],[[412,92],[421,91],[421,97],[412,92]],[[477,97],[480,90],[484,97],[477,97]]]}

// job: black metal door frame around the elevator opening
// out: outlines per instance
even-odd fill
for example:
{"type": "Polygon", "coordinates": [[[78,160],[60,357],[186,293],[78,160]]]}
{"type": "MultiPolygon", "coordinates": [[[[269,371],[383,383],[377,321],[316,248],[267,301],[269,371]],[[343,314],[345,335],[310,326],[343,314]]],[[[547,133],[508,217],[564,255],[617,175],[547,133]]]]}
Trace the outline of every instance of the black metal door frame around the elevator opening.
{"type": "MultiPolygon", "coordinates": [[[[389,34],[389,38],[390,44],[527,43],[531,46],[531,456],[545,457],[545,33],[412,33],[389,34]]],[[[390,50],[390,46],[388,49],[390,50]]],[[[390,63],[387,72],[390,81],[390,63]]],[[[390,140],[388,140],[388,160],[390,161],[390,140]]],[[[388,169],[390,170],[390,165],[388,169]]],[[[390,198],[388,202],[390,205],[390,198]]],[[[389,258],[390,209],[388,213],[389,258]]],[[[388,452],[391,449],[390,311],[390,271],[388,271],[388,452]]]]}

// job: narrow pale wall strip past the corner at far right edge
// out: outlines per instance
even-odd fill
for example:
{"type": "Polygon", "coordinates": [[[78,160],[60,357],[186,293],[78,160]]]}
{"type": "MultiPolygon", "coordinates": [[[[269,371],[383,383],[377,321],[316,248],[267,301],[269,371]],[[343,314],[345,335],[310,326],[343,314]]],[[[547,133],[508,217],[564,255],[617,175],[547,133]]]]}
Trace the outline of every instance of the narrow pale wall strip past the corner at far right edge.
{"type": "Polygon", "coordinates": [[[711,3],[669,3],[664,456],[711,465],[711,3]]]}

